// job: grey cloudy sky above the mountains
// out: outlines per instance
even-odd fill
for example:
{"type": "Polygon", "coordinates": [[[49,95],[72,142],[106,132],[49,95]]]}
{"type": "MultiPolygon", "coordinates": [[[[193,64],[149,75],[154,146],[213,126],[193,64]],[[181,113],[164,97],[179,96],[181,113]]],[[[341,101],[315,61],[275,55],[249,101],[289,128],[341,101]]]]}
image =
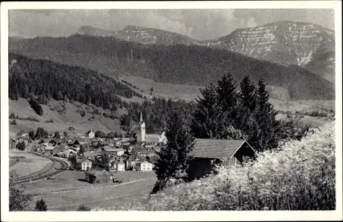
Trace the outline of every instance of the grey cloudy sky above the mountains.
{"type": "Polygon", "coordinates": [[[331,9],[10,10],[9,35],[70,36],[82,25],[105,30],[137,25],[206,40],[275,21],[315,23],[331,30],[335,26],[331,9]]]}

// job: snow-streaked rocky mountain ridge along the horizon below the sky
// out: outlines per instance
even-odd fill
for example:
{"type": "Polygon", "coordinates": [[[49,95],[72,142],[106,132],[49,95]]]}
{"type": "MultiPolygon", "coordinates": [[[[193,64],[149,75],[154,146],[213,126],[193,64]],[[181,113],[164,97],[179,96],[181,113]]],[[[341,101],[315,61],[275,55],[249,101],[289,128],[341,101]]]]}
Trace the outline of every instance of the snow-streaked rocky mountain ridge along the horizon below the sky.
{"type": "Polygon", "coordinates": [[[311,23],[279,21],[258,27],[240,28],[208,41],[134,25],[119,31],[82,26],[76,34],[112,36],[141,44],[202,45],[228,49],[282,65],[299,65],[331,82],[335,80],[335,32],[311,23]]]}

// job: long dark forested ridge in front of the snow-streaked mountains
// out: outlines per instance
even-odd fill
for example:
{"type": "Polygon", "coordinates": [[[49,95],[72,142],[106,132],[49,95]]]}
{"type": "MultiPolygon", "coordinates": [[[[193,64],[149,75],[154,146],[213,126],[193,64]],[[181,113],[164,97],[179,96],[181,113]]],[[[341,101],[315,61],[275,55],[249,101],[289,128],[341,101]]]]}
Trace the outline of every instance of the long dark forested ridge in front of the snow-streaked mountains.
{"type": "Polygon", "coordinates": [[[30,58],[94,69],[116,77],[141,76],[155,82],[208,85],[230,72],[257,82],[286,89],[293,100],[335,98],[328,80],[297,65],[283,66],[257,60],[226,49],[200,45],[143,45],[113,37],[73,35],[68,38],[9,39],[9,51],[30,58]]]}

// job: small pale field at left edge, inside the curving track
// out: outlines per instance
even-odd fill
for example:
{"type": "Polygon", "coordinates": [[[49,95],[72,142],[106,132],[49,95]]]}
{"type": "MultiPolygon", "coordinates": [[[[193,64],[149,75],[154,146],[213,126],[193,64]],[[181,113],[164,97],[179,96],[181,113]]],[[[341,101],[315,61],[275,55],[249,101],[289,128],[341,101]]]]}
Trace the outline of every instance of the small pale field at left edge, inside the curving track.
{"type": "Polygon", "coordinates": [[[35,173],[42,170],[49,164],[54,164],[51,160],[45,159],[43,157],[38,157],[31,153],[26,153],[25,151],[10,151],[11,157],[25,157],[20,158],[18,161],[16,159],[10,159],[10,170],[16,170],[20,176],[29,175],[30,173],[35,173]]]}

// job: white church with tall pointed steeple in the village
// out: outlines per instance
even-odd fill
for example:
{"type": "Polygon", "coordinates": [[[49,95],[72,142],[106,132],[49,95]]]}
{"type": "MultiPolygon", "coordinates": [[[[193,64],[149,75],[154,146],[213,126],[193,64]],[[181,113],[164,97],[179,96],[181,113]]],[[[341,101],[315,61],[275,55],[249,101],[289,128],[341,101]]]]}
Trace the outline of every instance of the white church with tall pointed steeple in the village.
{"type": "Polygon", "coordinates": [[[143,114],[141,112],[141,118],[137,126],[137,142],[145,144],[167,144],[167,137],[165,137],[165,132],[161,134],[146,134],[145,133],[145,122],[143,121],[143,114]]]}

